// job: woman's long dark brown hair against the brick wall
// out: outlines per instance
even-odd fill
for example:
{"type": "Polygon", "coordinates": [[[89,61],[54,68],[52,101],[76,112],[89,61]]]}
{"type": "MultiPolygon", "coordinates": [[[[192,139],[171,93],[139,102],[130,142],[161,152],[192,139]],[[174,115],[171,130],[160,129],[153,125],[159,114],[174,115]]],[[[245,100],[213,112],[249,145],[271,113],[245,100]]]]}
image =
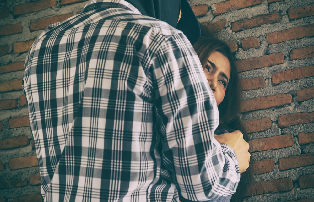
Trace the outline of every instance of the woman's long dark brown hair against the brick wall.
{"type": "MultiPolygon", "coordinates": [[[[247,134],[239,118],[241,102],[240,79],[236,70],[234,55],[230,51],[229,46],[225,42],[214,37],[202,27],[202,36],[193,45],[193,47],[198,54],[203,69],[206,66],[209,55],[214,51],[218,51],[228,58],[231,68],[230,79],[227,89],[225,91],[225,98],[218,106],[220,117],[218,128],[228,130],[229,132],[232,132],[234,130],[240,130],[243,133],[244,140],[247,141],[247,134]]],[[[251,183],[251,179],[252,172],[251,168],[249,167],[246,172],[243,172],[241,174],[236,193],[233,194],[231,197],[232,202],[243,201],[243,198],[247,193],[249,184],[251,183]]]]}

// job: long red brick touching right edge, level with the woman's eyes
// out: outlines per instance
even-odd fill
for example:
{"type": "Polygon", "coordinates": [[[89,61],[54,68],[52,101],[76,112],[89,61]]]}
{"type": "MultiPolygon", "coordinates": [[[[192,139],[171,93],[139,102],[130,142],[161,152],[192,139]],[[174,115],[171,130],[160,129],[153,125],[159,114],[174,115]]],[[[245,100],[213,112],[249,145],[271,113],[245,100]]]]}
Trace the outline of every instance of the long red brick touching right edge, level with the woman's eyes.
{"type": "Polygon", "coordinates": [[[285,81],[292,81],[311,76],[314,76],[314,65],[275,72],[272,74],[272,84],[280,84],[285,81]]]}

